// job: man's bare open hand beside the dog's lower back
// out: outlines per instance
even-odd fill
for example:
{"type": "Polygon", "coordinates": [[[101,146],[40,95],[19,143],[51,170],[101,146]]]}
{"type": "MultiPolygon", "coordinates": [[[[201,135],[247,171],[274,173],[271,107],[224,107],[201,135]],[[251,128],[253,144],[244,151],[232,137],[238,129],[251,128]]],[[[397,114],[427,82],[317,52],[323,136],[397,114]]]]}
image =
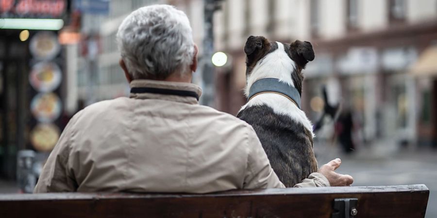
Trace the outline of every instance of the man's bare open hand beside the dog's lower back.
{"type": "Polygon", "coordinates": [[[340,167],[340,164],[340,158],[331,160],[319,169],[319,173],[328,179],[331,186],[350,186],[353,183],[352,176],[342,175],[335,172],[335,170],[340,167]]]}

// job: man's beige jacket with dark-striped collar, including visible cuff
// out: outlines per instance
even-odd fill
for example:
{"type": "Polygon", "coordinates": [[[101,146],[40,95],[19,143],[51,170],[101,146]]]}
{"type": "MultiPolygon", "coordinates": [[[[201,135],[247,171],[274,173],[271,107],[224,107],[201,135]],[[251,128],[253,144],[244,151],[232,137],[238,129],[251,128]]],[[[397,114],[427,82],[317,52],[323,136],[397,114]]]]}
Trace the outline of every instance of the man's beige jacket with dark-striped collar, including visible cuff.
{"type": "MultiPolygon", "coordinates": [[[[184,90],[191,83],[135,80],[184,90]]],[[[329,186],[313,173],[298,187],[329,186]]],[[[196,97],[131,93],[88,106],[68,123],[34,192],[206,193],[284,187],[252,127],[196,97]]]]}

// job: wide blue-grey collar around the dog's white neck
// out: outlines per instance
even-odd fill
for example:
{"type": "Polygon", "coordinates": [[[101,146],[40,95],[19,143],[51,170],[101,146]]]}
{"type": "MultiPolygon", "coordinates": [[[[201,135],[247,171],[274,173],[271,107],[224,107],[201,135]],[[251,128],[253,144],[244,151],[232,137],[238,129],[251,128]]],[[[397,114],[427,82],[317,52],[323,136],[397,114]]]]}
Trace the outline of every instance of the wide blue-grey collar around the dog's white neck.
{"type": "Polygon", "coordinates": [[[254,82],[249,90],[248,100],[261,93],[277,93],[285,96],[301,109],[301,94],[296,88],[279,81],[277,78],[262,78],[254,82]]]}

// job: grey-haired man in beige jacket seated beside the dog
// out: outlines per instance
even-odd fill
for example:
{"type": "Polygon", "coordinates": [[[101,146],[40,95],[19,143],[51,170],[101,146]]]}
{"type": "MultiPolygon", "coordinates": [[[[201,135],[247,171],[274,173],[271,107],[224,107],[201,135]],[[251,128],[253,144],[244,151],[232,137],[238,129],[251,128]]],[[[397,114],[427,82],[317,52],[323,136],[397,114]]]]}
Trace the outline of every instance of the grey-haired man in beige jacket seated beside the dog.
{"type": "MultiPolygon", "coordinates": [[[[198,104],[188,18],[168,5],[140,8],[117,33],[130,97],[88,106],[68,123],[34,192],[206,193],[284,187],[252,127],[198,104]]],[[[333,160],[297,187],[346,186],[333,160]]]]}

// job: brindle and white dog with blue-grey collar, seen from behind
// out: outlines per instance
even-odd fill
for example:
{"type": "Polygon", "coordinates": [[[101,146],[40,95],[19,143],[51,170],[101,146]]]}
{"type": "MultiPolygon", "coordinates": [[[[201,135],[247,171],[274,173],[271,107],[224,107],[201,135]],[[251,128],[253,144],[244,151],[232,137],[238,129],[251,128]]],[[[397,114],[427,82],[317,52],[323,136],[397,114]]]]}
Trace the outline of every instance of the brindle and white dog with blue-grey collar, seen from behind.
{"type": "Polygon", "coordinates": [[[244,52],[248,102],[237,117],[252,125],[271,167],[286,187],[293,187],[318,171],[312,125],[300,109],[302,70],[315,58],[313,47],[250,36],[244,52]]]}

